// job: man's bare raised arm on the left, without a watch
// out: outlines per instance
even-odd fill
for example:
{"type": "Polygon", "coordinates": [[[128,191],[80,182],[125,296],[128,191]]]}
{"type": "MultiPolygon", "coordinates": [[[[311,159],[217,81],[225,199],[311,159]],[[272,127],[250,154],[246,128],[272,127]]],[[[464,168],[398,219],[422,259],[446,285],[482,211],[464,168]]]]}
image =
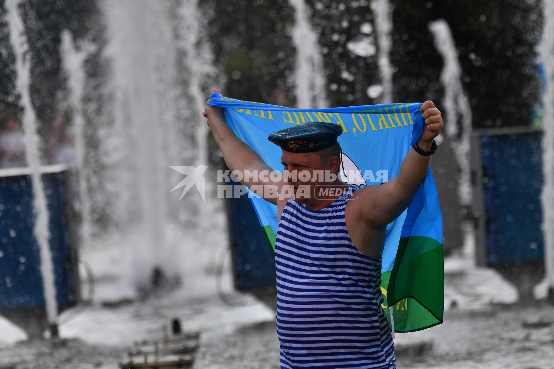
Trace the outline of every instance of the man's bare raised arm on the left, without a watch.
{"type": "MultiPolygon", "coordinates": [[[[213,89],[212,93],[218,92],[217,89],[213,89]]],[[[208,105],[209,100],[206,102],[208,105]]],[[[277,193],[280,193],[281,187],[287,184],[284,181],[271,181],[268,175],[260,175],[269,173],[271,169],[264,160],[260,158],[252,148],[240,140],[236,134],[225,123],[223,116],[223,108],[216,106],[206,106],[206,110],[202,113],[204,117],[208,118],[208,127],[212,130],[213,137],[223,154],[225,164],[229,170],[238,170],[243,173],[243,179],[240,181],[243,185],[251,188],[254,185],[271,185],[277,186],[277,193]],[[255,173],[254,176],[244,175],[246,171],[255,173]]],[[[258,194],[261,196],[262,194],[258,194]]],[[[277,197],[267,197],[265,200],[277,204],[277,197]]]]}

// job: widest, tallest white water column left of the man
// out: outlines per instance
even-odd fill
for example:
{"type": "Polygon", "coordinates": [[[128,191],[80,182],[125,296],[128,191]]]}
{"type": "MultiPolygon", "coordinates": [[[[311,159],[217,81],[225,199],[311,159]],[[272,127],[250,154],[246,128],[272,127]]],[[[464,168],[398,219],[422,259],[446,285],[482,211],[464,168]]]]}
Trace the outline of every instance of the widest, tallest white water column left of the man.
{"type": "Polygon", "coordinates": [[[133,282],[148,285],[151,273],[173,269],[166,243],[167,178],[163,142],[165,104],[162,88],[171,89],[171,26],[165,2],[114,0],[105,4],[115,90],[114,126],[106,152],[115,194],[116,219],[140,242],[132,252],[133,282]],[[161,72],[163,70],[163,73],[161,72]]]}

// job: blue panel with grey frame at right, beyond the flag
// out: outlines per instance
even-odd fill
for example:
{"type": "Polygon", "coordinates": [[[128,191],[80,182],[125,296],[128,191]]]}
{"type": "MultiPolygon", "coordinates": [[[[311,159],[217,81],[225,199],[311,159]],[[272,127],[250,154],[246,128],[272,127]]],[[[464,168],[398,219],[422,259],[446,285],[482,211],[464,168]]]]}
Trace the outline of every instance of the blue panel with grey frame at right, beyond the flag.
{"type": "Polygon", "coordinates": [[[533,287],[545,277],[542,134],[511,127],[471,137],[476,262],[509,280],[520,302],[534,300],[533,287]]]}

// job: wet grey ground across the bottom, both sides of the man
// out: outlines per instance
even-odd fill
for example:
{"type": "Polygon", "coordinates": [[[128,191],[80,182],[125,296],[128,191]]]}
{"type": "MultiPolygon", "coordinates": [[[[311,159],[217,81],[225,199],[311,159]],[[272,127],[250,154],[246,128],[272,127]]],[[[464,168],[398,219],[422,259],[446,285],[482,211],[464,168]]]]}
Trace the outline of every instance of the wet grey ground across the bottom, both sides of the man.
{"type": "MultiPolygon", "coordinates": [[[[63,326],[72,337],[57,342],[5,344],[0,367],[116,368],[135,340],[162,336],[162,325],[178,316],[184,331],[201,331],[193,368],[279,368],[274,315],[245,295],[186,303],[169,299],[114,309],[91,308],[63,326]]],[[[495,305],[450,310],[444,325],[397,334],[402,368],[554,368],[554,308],[495,305]]],[[[2,325],[3,328],[4,325],[2,325]]],[[[0,331],[0,336],[6,332],[0,331]]]]}

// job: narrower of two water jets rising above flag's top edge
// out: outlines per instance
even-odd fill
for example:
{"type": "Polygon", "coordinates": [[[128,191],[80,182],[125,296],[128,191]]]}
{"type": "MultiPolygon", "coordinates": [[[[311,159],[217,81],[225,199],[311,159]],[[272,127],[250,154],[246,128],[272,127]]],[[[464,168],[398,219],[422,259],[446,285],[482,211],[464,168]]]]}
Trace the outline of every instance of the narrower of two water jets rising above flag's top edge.
{"type": "Polygon", "coordinates": [[[375,29],[377,45],[379,46],[378,66],[383,84],[382,103],[392,103],[392,73],[391,53],[392,39],[392,9],[388,0],[374,0],[371,9],[375,14],[375,29]]]}

